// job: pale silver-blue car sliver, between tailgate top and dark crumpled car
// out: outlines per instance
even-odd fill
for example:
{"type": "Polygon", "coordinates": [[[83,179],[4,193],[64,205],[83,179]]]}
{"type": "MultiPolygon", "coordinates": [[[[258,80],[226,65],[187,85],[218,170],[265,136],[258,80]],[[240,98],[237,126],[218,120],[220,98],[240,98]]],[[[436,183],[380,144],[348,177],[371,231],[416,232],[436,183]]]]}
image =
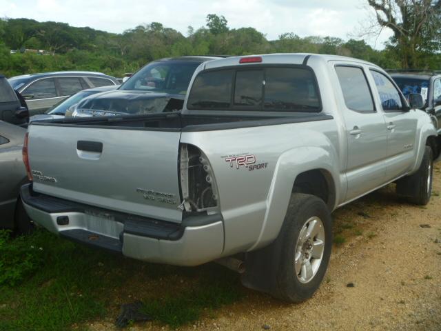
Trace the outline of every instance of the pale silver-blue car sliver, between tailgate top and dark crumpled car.
{"type": "Polygon", "coordinates": [[[100,88],[88,88],[87,90],[82,90],[77,92],[68,99],[64,99],[57,103],[57,105],[52,106],[45,114],[37,114],[30,118],[30,121],[42,121],[45,119],[61,119],[65,116],[72,116],[72,112],[74,111],[74,107],[83,99],[89,97],[92,94],[106,92],[110,90],[116,90],[118,86],[110,85],[110,86],[101,86],[100,88]]]}

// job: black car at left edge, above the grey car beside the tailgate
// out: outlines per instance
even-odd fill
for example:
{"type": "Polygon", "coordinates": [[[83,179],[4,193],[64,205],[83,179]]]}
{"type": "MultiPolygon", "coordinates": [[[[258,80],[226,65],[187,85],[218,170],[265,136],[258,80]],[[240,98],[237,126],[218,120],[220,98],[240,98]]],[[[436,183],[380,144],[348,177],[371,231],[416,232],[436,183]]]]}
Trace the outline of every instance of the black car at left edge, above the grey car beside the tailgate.
{"type": "Polygon", "coordinates": [[[6,77],[0,74],[0,121],[28,126],[29,112],[23,102],[20,100],[20,94],[14,91],[6,77]]]}

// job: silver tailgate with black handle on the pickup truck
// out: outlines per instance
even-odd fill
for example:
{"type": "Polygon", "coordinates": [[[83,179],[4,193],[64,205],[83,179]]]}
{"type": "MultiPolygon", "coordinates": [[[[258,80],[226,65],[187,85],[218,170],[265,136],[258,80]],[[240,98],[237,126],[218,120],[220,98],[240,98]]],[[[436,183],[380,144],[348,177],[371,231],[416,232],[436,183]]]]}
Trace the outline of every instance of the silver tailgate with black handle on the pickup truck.
{"type": "Polygon", "coordinates": [[[34,190],[143,217],[180,223],[181,132],[32,125],[34,190]]]}

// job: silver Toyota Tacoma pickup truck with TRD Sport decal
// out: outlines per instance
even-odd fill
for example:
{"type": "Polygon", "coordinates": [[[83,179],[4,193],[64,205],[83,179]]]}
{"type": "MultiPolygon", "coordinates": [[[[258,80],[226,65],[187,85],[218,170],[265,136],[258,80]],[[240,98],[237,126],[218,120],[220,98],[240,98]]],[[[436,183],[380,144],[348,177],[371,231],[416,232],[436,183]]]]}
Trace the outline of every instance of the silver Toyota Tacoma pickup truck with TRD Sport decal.
{"type": "Polygon", "coordinates": [[[325,274],[333,210],[391,182],[429,201],[437,132],[412,100],[347,57],[209,61],[182,112],[33,122],[21,197],[68,239],[156,263],[220,261],[298,302],[325,274]]]}

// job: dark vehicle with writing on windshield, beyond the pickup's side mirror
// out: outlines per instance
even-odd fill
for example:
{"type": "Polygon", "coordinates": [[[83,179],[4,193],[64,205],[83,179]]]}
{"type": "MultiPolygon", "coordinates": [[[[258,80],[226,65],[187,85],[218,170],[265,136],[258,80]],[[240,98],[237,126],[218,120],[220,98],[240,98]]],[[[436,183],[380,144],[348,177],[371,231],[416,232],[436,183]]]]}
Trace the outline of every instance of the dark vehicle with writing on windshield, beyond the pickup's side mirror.
{"type": "Polygon", "coordinates": [[[435,148],[441,151],[441,71],[424,70],[388,70],[393,80],[401,89],[404,97],[409,94],[421,94],[424,105],[422,110],[431,115],[438,131],[435,148]]]}

